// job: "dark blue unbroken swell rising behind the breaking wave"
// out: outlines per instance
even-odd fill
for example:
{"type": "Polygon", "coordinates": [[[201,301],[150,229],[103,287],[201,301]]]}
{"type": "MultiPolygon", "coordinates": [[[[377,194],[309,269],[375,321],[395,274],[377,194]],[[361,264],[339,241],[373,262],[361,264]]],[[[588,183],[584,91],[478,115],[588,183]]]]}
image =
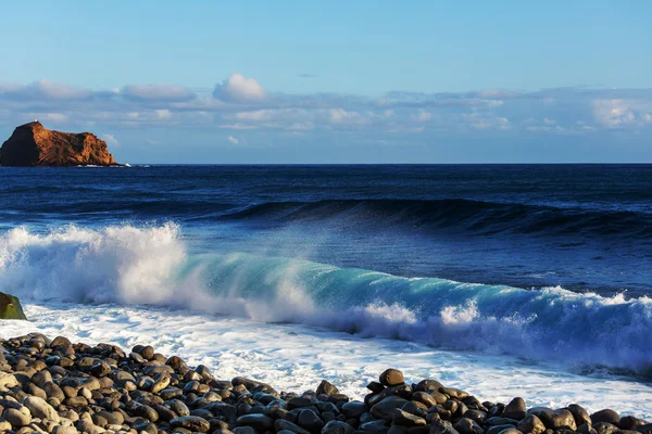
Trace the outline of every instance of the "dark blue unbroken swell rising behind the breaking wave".
{"type": "Polygon", "coordinates": [[[228,219],[331,220],[351,225],[467,230],[481,234],[592,234],[652,238],[652,214],[447,200],[279,202],[227,213],[228,219]]]}

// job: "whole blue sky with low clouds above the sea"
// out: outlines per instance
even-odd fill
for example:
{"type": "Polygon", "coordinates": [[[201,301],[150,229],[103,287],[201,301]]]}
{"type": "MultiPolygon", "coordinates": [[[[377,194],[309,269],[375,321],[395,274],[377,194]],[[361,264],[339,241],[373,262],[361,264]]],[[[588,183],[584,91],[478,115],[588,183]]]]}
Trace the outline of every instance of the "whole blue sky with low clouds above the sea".
{"type": "Polygon", "coordinates": [[[123,163],[652,162],[652,2],[0,3],[0,141],[123,163]]]}

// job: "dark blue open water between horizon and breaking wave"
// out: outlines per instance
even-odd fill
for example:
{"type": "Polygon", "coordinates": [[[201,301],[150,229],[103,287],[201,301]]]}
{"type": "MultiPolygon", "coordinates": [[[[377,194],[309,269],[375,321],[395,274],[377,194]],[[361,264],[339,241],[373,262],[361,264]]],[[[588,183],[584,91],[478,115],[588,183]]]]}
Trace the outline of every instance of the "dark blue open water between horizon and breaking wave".
{"type": "Polygon", "coordinates": [[[198,253],[652,293],[652,165],[0,167],[0,233],[166,221],[198,253]]]}

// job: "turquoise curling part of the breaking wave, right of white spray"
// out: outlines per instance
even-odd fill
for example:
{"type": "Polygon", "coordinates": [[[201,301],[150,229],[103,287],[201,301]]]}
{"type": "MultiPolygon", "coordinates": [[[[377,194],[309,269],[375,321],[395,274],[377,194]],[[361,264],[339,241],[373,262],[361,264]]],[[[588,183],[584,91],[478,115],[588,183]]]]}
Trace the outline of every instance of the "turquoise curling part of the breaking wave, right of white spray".
{"type": "Polygon", "coordinates": [[[243,315],[261,320],[642,374],[651,369],[647,297],[409,279],[242,253],[197,257],[190,268],[197,267],[224,314],[240,301],[243,315]]]}

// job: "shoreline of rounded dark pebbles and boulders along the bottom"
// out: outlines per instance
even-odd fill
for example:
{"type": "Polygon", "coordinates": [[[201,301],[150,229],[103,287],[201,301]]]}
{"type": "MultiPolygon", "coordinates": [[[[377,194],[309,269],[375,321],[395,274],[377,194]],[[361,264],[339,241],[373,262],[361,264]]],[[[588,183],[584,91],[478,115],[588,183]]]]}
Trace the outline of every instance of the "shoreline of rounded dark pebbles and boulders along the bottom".
{"type": "Polygon", "coordinates": [[[481,401],[436,380],[408,384],[396,369],[367,385],[364,401],[327,381],[315,386],[215,379],[151,346],[0,340],[0,433],[652,434],[652,423],[610,409],[481,401]]]}

